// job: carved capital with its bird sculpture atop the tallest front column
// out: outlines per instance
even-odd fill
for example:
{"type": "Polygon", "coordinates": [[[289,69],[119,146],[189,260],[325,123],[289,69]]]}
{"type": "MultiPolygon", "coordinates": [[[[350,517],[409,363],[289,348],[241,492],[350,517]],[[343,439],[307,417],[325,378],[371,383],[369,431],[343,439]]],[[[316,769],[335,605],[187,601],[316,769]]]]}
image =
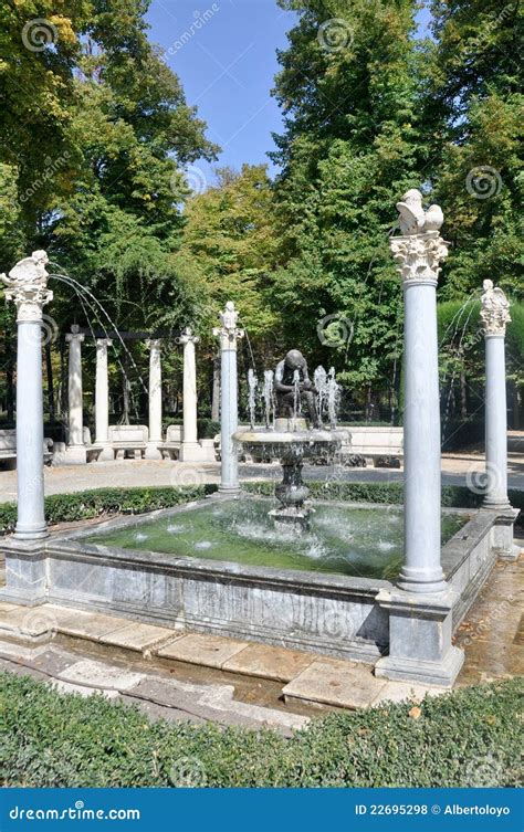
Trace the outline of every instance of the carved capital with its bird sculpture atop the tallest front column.
{"type": "Polygon", "coordinates": [[[397,202],[401,236],[392,236],[389,248],[405,285],[437,286],[441,260],[448,245],[440,236],[444,220],[440,206],[422,208],[422,194],[416,188],[397,202]]]}

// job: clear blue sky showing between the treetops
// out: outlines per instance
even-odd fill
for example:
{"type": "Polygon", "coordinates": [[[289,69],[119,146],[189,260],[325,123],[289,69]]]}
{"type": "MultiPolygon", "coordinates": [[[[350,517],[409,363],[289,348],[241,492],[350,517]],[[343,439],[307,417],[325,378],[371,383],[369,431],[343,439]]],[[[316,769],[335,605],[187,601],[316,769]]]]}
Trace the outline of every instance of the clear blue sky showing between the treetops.
{"type": "MultiPolygon", "coordinates": [[[[188,104],[198,106],[208,137],[221,146],[220,166],[268,162],[273,170],[266,152],[282,125],[271,96],[275,51],[285,48],[294,19],[276,0],[151,0],[150,40],[167,51],[188,104]]],[[[422,29],[427,19],[423,10],[422,29]]],[[[211,167],[198,161],[189,171],[197,190],[212,182],[211,167]]]]}

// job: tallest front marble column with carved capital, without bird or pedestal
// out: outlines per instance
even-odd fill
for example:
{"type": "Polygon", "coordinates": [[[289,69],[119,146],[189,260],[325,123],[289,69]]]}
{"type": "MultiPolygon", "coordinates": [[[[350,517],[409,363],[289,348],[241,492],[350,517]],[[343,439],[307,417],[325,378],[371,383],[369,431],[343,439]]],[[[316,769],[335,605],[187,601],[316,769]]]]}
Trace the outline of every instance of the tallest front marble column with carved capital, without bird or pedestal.
{"type": "Polygon", "coordinates": [[[404,284],[405,560],[398,586],[446,589],[440,565],[440,397],[437,335],[439,262],[448,251],[438,231],[390,240],[404,284]]]}

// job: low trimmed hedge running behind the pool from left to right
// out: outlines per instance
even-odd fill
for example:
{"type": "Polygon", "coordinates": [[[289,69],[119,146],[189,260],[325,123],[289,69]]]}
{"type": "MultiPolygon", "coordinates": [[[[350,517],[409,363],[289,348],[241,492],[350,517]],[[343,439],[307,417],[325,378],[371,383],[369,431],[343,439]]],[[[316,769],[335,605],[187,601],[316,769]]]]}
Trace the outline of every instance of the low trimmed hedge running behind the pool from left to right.
{"type": "MultiPolygon", "coordinates": [[[[307,483],[315,499],[337,499],[347,503],[382,503],[401,505],[404,488],[401,483],[307,483]]],[[[158,508],[171,508],[180,503],[201,499],[217,491],[217,485],[198,485],[184,488],[96,488],[76,494],[53,494],[45,497],[45,517],[50,525],[86,520],[101,515],[145,514],[158,508]]],[[[275,482],[243,483],[244,491],[251,494],[272,497],[275,482]]],[[[524,491],[510,491],[510,501],[514,508],[521,509],[518,525],[524,524],[524,491]]],[[[478,508],[482,495],[458,485],[444,485],[442,505],[454,508],[478,508]]],[[[0,503],[0,535],[13,531],[17,523],[14,503],[0,503]]]]}

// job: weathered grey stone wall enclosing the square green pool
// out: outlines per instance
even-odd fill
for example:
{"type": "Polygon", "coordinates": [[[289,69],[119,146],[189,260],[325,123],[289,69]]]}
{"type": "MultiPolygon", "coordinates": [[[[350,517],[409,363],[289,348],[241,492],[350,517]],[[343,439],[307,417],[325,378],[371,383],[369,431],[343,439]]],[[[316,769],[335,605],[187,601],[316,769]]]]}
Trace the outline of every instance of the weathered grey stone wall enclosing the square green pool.
{"type": "MultiPolygon", "coordinates": [[[[315,570],[312,558],[308,569],[303,562],[296,562],[296,568],[235,562],[228,541],[222,559],[211,559],[207,557],[211,552],[197,549],[189,537],[187,548],[175,548],[174,554],[151,550],[150,539],[136,541],[139,548],[103,545],[108,535],[148,535],[146,526],[151,520],[175,525],[184,515],[198,517],[244,499],[250,498],[208,498],[192,506],[109,520],[96,530],[86,525],[74,533],[54,533],[32,544],[2,540],[7,587],[0,600],[111,611],[174,629],[377,661],[389,644],[390,610],[382,598],[395,589],[394,569],[382,571],[388,578],[380,578],[378,572],[363,575],[364,570],[353,576],[315,570]]],[[[391,516],[387,506],[359,508],[369,510],[378,527],[391,516]]],[[[322,509],[319,505],[318,519],[322,509]]],[[[497,522],[496,513],[471,513],[471,519],[442,548],[442,567],[454,598],[453,628],[496,560],[497,522]]],[[[199,539],[205,538],[200,535],[199,539]]],[[[370,564],[376,552],[370,543],[363,541],[363,555],[366,549],[370,564]]]]}

